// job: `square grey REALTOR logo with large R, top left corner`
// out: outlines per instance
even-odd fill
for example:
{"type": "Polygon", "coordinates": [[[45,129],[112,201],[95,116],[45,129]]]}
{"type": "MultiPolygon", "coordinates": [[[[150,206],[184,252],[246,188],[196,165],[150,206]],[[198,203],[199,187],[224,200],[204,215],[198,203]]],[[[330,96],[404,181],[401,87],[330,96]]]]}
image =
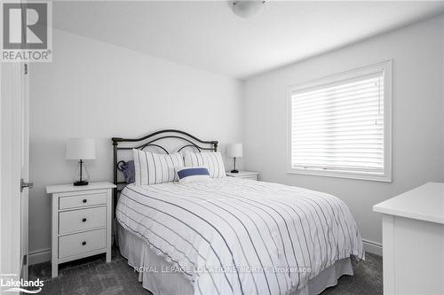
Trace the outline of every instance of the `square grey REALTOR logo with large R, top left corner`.
{"type": "Polygon", "coordinates": [[[2,61],[52,61],[50,2],[3,3],[1,15],[2,61]]]}

